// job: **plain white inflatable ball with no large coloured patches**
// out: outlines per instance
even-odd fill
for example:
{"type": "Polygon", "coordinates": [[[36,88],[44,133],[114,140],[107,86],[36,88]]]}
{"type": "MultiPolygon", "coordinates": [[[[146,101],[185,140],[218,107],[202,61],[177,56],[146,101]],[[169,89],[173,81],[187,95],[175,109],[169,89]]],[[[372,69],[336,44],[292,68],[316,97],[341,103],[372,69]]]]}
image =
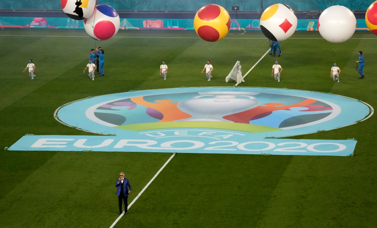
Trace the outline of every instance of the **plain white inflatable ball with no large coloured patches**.
{"type": "Polygon", "coordinates": [[[319,16],[318,30],[325,40],[342,43],[354,34],[356,17],[345,6],[330,6],[319,16]]]}

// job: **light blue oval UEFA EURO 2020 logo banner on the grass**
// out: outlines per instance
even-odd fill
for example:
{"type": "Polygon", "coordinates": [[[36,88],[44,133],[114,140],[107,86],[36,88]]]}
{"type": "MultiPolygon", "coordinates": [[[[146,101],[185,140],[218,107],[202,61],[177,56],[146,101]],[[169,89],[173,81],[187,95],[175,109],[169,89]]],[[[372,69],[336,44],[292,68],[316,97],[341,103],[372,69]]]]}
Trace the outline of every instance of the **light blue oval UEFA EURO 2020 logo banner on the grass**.
{"type": "Polygon", "coordinates": [[[367,119],[370,108],[348,97],[301,90],[132,91],[89,97],[56,111],[61,123],[102,136],[39,137],[29,145],[35,150],[347,156],[353,153],[356,140],[282,137],[348,126],[367,119]]]}

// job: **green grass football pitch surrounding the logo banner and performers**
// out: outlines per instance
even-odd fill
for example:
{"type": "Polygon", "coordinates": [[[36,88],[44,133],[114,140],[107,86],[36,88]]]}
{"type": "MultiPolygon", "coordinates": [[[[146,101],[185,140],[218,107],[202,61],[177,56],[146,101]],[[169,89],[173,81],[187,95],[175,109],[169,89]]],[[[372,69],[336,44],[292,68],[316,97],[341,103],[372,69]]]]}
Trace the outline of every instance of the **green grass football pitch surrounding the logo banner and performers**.
{"type": "MultiPolygon", "coordinates": [[[[271,77],[267,55],[247,75],[247,87],[339,94],[377,106],[377,36],[356,32],[331,44],[318,32],[296,32],[280,43],[283,71],[271,77]],[[365,79],[355,70],[365,56],[365,79]],[[340,83],[330,78],[337,61],[340,83]]],[[[129,90],[229,86],[237,60],[245,74],[268,50],[261,32],[231,31],[208,43],[193,31],[120,30],[94,41],[84,30],[2,29],[0,32],[0,148],[25,134],[92,135],[54,119],[65,103],[129,90]],[[104,77],[83,70],[90,49],[105,50],[104,77]],[[22,73],[29,58],[37,78],[22,73]],[[167,80],[159,76],[166,60],[167,80]],[[200,74],[211,59],[214,79],[200,74]]],[[[375,227],[375,115],[345,128],[291,138],[347,139],[354,157],[179,153],[115,227],[375,227]]],[[[115,180],[125,172],[129,203],[170,153],[0,152],[1,227],[109,227],[118,217],[115,180]]]]}

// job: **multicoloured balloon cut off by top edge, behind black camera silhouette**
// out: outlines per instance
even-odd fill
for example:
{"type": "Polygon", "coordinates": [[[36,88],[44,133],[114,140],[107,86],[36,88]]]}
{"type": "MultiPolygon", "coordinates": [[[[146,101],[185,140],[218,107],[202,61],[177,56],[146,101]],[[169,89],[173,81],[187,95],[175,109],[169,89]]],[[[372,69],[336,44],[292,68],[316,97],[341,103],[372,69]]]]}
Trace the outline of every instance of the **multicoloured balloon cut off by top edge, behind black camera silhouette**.
{"type": "Polygon", "coordinates": [[[89,18],[97,5],[96,0],[60,0],[61,9],[70,18],[84,20],[89,18]]]}

